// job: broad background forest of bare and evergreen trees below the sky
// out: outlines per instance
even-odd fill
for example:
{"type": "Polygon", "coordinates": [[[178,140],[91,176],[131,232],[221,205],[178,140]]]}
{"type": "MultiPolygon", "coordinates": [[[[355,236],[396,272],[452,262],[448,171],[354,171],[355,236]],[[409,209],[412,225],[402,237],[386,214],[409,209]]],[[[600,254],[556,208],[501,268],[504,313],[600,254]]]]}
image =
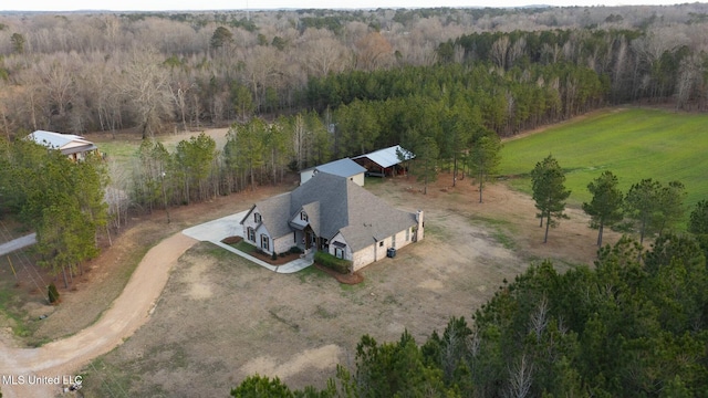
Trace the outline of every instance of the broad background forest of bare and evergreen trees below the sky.
{"type": "MultiPolygon", "coordinates": [[[[699,3],[3,14],[0,129],[147,137],[312,109],[329,126],[356,101],[372,117],[421,100],[430,113],[465,102],[503,136],[623,102],[704,109],[707,15],[699,3]]],[[[393,124],[377,145],[402,140],[393,124]]]]}

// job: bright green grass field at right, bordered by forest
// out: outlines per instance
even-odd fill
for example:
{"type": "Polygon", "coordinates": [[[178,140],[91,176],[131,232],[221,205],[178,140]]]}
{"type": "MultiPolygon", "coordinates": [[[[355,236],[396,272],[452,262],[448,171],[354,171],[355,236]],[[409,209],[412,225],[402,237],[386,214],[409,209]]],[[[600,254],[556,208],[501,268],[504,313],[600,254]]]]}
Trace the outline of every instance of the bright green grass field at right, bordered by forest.
{"type": "Polygon", "coordinates": [[[530,171],[553,155],[572,190],[569,205],[590,201],[587,184],[604,170],[626,192],[643,178],[686,186],[687,214],[708,199],[708,114],[612,108],[504,143],[500,172],[516,189],[531,192],[530,171]]]}

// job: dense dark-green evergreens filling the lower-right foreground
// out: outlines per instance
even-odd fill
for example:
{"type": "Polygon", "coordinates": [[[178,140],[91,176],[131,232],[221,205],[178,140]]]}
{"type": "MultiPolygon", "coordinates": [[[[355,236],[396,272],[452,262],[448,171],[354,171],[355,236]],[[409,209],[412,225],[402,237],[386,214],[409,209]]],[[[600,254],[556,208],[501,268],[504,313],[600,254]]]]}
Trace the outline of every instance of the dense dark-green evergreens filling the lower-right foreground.
{"type": "Polygon", "coordinates": [[[354,368],[340,365],[323,389],[254,375],[231,396],[706,396],[707,249],[664,234],[643,254],[622,238],[593,268],[544,261],[504,281],[471,323],[452,317],[421,344],[363,336],[354,368]]]}

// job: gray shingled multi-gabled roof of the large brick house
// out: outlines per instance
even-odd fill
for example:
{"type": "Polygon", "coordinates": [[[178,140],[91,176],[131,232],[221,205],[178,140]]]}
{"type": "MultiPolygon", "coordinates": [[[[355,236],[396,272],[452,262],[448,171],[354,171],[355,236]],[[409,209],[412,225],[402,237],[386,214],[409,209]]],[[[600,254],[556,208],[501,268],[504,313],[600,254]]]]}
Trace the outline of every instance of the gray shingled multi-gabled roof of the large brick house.
{"type": "Polygon", "coordinates": [[[415,213],[398,210],[347,178],[327,172],[319,172],[292,192],[256,206],[274,238],[292,232],[289,221],[305,210],[317,235],[332,239],[342,232],[354,251],[416,224],[415,213]]]}

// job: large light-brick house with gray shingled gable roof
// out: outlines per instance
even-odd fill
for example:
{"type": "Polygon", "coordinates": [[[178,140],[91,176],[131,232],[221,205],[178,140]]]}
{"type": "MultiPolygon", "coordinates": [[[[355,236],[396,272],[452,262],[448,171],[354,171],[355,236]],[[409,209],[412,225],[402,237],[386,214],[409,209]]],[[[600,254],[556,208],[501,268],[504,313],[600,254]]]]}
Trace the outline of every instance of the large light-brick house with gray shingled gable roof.
{"type": "Polygon", "coordinates": [[[253,205],[244,241],[267,253],[296,245],[352,261],[356,271],[423,239],[423,211],[398,210],[345,177],[317,172],[295,190],[253,205]]]}

